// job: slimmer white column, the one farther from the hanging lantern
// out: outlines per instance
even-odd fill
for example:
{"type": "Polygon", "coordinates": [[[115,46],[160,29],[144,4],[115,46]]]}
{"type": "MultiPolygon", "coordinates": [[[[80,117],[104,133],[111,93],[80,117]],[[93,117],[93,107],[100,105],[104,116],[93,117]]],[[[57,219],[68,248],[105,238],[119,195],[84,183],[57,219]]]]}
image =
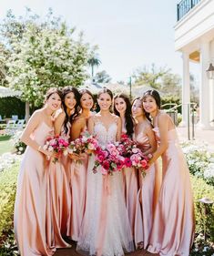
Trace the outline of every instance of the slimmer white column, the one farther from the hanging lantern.
{"type": "Polygon", "coordinates": [[[183,52],[183,83],[182,83],[182,122],[181,127],[188,125],[188,103],[190,102],[189,53],[183,52]]]}

